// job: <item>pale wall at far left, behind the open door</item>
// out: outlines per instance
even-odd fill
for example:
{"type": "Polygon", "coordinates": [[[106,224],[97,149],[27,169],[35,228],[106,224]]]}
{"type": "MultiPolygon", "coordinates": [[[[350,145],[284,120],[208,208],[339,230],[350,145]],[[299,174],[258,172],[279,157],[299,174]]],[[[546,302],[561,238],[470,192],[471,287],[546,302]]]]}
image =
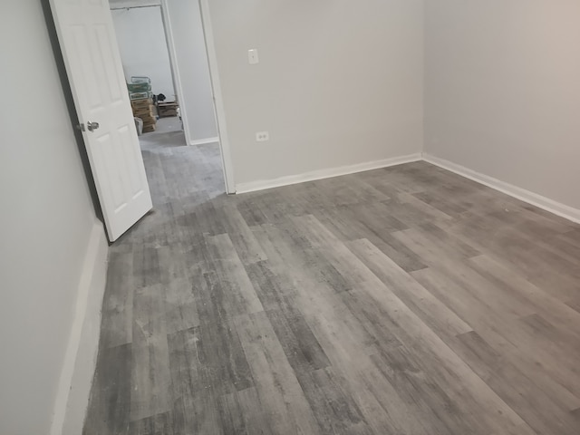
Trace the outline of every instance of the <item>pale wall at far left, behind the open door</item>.
{"type": "Polygon", "coordinates": [[[95,212],[41,2],[0,15],[0,433],[47,434],[95,212]]]}

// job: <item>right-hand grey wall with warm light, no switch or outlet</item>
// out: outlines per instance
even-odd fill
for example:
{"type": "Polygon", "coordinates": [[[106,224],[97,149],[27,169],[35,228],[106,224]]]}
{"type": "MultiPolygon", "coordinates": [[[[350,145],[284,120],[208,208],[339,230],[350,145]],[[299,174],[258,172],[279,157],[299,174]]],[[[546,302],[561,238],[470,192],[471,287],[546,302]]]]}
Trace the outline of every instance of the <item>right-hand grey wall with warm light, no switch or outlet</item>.
{"type": "Polygon", "coordinates": [[[580,3],[426,2],[425,151],[580,208],[580,3]]]}

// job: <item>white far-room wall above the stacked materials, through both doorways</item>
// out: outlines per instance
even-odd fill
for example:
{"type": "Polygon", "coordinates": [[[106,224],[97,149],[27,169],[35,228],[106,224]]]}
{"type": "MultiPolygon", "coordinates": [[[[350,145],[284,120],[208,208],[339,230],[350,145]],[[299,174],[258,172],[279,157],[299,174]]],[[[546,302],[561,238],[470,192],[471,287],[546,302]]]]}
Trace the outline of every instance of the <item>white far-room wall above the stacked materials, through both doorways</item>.
{"type": "Polygon", "coordinates": [[[151,79],[153,93],[175,101],[160,6],[118,9],[111,14],[127,82],[133,75],[145,75],[151,79]]]}

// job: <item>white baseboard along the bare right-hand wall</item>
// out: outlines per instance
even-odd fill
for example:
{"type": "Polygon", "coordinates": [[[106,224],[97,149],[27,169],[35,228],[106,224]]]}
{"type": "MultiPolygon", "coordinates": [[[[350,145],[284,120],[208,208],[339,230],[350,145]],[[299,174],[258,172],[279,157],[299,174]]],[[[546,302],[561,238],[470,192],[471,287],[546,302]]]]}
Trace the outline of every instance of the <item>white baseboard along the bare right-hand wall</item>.
{"type": "Polygon", "coordinates": [[[473,169],[465,168],[464,166],[458,165],[457,163],[453,163],[449,160],[443,160],[427,153],[423,153],[423,160],[433,165],[439,166],[440,168],[450,170],[451,172],[465,177],[466,179],[477,181],[480,184],[488,186],[488,188],[499,190],[500,192],[505,193],[510,197],[520,199],[524,202],[527,202],[528,204],[543,208],[550,213],[554,213],[557,216],[580,224],[580,209],[566,206],[565,204],[556,202],[553,199],[543,197],[526,189],[518,188],[517,186],[506,183],[505,181],[488,177],[487,175],[480,174],[473,169]]]}

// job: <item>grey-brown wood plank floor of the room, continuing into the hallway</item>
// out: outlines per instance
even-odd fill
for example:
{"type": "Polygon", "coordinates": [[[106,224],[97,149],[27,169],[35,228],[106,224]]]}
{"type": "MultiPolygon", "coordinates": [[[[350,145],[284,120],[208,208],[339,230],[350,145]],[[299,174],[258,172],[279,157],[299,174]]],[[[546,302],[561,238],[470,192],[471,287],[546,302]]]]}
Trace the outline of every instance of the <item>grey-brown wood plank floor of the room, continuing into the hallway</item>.
{"type": "Polygon", "coordinates": [[[227,197],[143,140],[85,435],[580,434],[580,226],[425,162],[227,197]]]}

